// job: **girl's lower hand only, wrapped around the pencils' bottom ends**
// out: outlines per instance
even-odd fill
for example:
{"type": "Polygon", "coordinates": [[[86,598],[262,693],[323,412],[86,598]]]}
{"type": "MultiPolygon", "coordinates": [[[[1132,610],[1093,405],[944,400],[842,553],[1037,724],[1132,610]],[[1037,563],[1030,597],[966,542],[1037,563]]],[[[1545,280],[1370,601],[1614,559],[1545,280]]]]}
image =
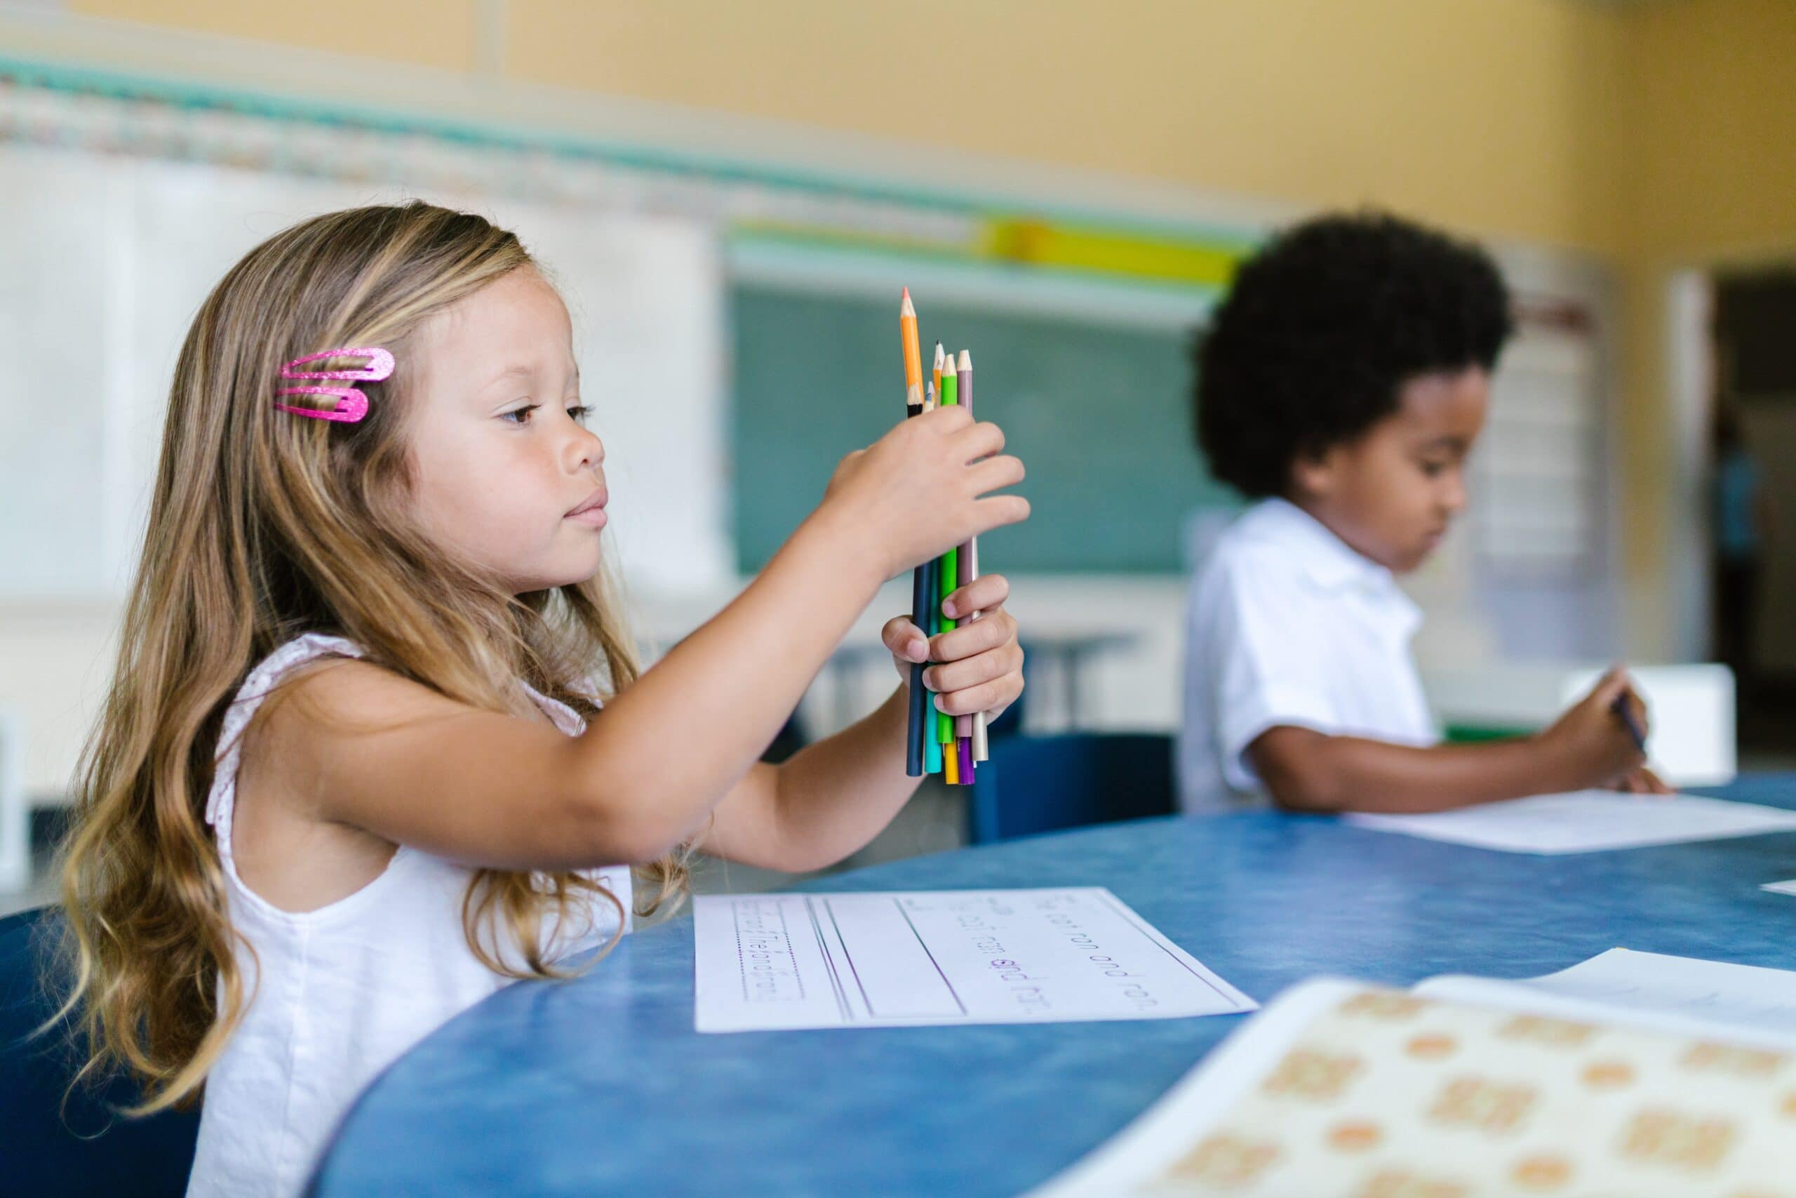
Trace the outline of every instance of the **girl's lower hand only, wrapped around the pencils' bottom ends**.
{"type": "MultiPolygon", "coordinates": [[[[921,418],[921,417],[918,417],[921,418]]],[[[1004,611],[1009,582],[1004,575],[981,575],[941,603],[945,616],[961,620],[934,643],[907,616],[885,623],[880,634],[893,652],[898,677],[911,677],[911,663],[938,665],[923,670],[923,686],[936,691],[936,709],[948,715],[986,711],[997,718],[1022,693],[1022,645],[1017,620],[1004,611]],[[972,623],[966,616],[981,612],[972,623]]]]}

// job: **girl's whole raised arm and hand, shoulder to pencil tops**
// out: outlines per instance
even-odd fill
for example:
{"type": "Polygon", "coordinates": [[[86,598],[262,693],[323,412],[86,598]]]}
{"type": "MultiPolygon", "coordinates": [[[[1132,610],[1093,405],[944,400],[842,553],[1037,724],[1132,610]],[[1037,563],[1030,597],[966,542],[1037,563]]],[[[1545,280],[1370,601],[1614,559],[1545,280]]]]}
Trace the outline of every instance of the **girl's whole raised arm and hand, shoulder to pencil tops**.
{"type": "Polygon", "coordinates": [[[582,736],[365,663],[293,686],[260,733],[302,814],[478,866],[650,860],[756,763],[878,586],[1027,517],[1004,435],[943,408],[850,454],[767,569],[582,736]],[[304,780],[304,783],[300,781],[304,780]]]}

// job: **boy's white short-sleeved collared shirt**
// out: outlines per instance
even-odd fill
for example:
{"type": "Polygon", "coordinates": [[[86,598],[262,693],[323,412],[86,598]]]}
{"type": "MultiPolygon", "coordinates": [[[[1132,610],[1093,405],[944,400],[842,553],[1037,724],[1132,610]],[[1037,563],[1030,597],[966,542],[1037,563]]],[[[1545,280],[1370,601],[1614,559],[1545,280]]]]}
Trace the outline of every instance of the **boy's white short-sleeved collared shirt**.
{"type": "Polygon", "coordinates": [[[1185,607],[1184,810],[1264,805],[1245,753],[1270,727],[1435,744],[1410,657],[1421,623],[1390,571],[1313,515],[1284,499],[1248,508],[1185,607]]]}

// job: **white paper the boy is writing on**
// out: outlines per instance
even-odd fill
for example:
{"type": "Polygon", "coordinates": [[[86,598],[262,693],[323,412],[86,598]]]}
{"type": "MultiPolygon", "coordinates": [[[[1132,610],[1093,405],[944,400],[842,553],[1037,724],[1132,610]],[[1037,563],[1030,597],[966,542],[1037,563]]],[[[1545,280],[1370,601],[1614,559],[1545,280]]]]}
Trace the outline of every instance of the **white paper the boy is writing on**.
{"type": "Polygon", "coordinates": [[[1347,815],[1347,823],[1503,853],[1593,853],[1796,830],[1796,812],[1755,803],[1579,790],[1431,815],[1347,815]]]}

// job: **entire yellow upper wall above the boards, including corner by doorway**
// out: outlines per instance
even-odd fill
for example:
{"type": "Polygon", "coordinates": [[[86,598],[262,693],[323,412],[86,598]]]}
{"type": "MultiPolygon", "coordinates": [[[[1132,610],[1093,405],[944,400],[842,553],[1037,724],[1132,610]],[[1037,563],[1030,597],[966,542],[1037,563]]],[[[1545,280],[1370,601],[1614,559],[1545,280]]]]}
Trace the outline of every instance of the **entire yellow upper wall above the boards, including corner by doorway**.
{"type": "Polygon", "coordinates": [[[1636,657],[1688,650],[1674,596],[1699,548],[1668,368],[1670,282],[1683,268],[1796,250],[1789,0],[1117,0],[1096,13],[1078,0],[916,0],[902,14],[817,0],[61,7],[264,41],[273,77],[278,47],[323,48],[465,72],[471,84],[557,84],[1115,172],[1239,196],[1259,214],[1376,201],[1595,251],[1620,282],[1636,657]]]}

